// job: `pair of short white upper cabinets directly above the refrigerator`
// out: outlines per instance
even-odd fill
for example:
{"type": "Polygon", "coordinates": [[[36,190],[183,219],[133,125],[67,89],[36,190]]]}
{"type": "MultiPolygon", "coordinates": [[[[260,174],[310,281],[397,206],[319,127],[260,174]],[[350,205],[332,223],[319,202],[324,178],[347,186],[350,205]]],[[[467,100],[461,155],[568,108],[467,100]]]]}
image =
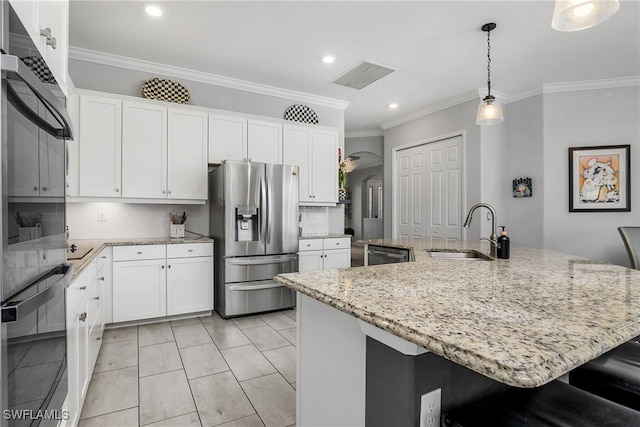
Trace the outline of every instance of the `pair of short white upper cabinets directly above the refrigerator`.
{"type": "Polygon", "coordinates": [[[282,164],[282,123],[209,114],[209,163],[224,160],[282,164]]]}

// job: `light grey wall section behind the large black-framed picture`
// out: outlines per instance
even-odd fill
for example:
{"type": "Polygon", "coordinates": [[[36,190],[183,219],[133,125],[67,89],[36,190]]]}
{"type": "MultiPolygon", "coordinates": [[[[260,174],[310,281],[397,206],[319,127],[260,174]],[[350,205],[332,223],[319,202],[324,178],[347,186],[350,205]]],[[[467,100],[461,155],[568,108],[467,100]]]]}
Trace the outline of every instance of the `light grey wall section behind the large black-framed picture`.
{"type": "Polygon", "coordinates": [[[616,227],[640,225],[640,88],[544,95],[544,246],[630,266],[616,227]],[[631,212],[569,212],[568,148],[631,145],[631,212]]]}

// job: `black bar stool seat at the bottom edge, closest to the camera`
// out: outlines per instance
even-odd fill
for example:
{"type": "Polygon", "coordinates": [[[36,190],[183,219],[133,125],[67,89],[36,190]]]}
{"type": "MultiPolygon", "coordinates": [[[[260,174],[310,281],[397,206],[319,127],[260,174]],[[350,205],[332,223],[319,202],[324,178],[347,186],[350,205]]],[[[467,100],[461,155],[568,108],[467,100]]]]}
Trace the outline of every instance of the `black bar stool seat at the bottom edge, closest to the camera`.
{"type": "Polygon", "coordinates": [[[560,381],[534,389],[512,388],[442,416],[447,427],[629,427],[640,412],[560,381]]]}

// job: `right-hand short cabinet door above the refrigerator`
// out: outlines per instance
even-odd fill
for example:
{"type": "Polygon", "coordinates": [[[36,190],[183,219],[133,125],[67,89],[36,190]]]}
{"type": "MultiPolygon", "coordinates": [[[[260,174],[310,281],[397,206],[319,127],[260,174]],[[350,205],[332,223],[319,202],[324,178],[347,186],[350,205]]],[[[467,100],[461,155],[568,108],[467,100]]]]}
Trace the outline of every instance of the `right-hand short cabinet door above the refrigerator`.
{"type": "Polygon", "coordinates": [[[282,123],[249,119],[247,124],[247,158],[282,164],[282,123]]]}

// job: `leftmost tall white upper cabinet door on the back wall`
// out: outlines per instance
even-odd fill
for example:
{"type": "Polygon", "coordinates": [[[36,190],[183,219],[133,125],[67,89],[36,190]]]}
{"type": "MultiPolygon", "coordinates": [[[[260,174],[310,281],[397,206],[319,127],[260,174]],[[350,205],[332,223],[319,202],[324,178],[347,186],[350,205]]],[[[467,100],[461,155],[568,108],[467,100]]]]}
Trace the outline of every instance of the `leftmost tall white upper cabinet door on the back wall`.
{"type": "Polygon", "coordinates": [[[120,197],[122,101],[80,97],[79,195],[120,197]]]}

